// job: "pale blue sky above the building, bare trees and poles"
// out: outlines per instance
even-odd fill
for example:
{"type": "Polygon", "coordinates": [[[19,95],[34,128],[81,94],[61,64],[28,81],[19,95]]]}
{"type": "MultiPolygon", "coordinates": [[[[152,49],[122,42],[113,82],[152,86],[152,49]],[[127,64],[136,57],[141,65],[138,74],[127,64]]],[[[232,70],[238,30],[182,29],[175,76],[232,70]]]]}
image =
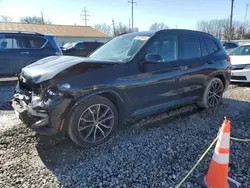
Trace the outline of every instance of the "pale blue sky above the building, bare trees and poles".
{"type": "MultiPolygon", "coordinates": [[[[164,22],[170,28],[195,29],[198,20],[229,18],[231,0],[137,0],[134,26],[148,30],[154,22],[164,22]]],[[[235,0],[234,19],[244,20],[250,0],[235,0]]],[[[0,0],[0,15],[18,21],[22,16],[40,16],[53,24],[83,25],[81,10],[86,7],[88,25],[115,22],[128,25],[131,5],[127,0],[0,0]]],[[[250,18],[250,6],[247,20],[250,18]]]]}

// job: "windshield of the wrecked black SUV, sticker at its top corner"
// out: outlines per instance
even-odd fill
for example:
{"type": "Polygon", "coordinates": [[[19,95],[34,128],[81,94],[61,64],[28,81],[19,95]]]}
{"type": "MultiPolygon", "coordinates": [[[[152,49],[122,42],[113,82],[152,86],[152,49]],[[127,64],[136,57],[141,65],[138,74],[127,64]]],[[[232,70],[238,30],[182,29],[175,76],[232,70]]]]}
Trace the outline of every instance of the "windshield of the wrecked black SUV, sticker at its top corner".
{"type": "Polygon", "coordinates": [[[128,61],[148,39],[148,36],[135,36],[134,34],[118,36],[103,45],[90,57],[107,60],[128,61]]]}

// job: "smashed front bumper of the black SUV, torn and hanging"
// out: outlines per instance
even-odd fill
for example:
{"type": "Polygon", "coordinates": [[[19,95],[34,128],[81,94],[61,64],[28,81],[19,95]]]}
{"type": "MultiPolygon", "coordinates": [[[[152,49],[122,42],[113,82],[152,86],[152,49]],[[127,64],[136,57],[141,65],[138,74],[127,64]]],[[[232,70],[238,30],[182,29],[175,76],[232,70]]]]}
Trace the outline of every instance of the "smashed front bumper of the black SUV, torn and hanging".
{"type": "Polygon", "coordinates": [[[64,96],[47,98],[16,89],[11,105],[18,118],[36,132],[44,135],[64,133],[64,120],[72,100],[64,96]]]}

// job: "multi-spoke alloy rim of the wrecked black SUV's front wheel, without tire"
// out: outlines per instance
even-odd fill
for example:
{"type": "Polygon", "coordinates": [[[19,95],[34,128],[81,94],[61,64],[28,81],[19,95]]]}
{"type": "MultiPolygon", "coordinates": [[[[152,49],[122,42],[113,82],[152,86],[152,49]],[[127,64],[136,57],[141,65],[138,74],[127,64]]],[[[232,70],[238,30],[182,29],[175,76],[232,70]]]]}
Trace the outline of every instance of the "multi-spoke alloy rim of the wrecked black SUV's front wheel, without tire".
{"type": "Polygon", "coordinates": [[[114,113],[105,104],[88,107],[78,121],[78,133],[89,143],[96,143],[106,138],[114,126],[114,113]]]}

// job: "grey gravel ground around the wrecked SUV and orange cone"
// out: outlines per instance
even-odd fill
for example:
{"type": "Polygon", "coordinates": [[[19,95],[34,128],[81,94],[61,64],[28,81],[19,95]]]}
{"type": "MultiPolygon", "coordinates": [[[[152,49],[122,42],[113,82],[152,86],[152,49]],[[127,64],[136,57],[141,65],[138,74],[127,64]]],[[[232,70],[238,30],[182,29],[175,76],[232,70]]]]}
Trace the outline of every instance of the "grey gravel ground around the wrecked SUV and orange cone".
{"type": "MultiPolygon", "coordinates": [[[[107,143],[82,149],[68,138],[42,137],[15,119],[0,91],[0,187],[175,187],[215,138],[224,116],[232,136],[250,138],[250,89],[231,85],[224,102],[195,105],[123,123],[107,143]]],[[[250,187],[250,143],[231,141],[230,177],[250,187]]],[[[199,187],[213,150],[183,187],[199,187]]]]}

